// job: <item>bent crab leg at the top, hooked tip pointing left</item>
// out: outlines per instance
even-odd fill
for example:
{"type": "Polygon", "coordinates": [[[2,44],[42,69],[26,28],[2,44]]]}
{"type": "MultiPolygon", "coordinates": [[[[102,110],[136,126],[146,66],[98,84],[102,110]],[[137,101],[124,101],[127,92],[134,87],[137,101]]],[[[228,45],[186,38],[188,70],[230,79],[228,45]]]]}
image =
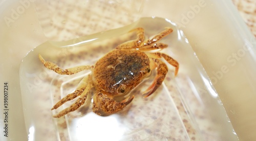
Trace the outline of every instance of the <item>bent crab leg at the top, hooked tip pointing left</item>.
{"type": "Polygon", "coordinates": [[[140,44],[144,41],[144,29],[143,28],[136,28],[131,30],[130,32],[136,31],[137,39],[126,41],[121,43],[117,46],[116,49],[136,49],[139,48],[140,44]]]}

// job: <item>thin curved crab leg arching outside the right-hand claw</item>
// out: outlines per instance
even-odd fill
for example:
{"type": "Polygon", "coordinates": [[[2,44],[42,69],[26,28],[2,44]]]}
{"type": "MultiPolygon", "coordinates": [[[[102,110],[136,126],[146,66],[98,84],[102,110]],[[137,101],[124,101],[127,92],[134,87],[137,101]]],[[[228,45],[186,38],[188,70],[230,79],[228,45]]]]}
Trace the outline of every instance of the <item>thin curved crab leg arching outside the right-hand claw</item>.
{"type": "Polygon", "coordinates": [[[179,71],[179,63],[173,59],[172,57],[164,54],[164,53],[160,53],[160,52],[156,52],[156,53],[148,53],[147,54],[148,56],[152,57],[152,58],[161,58],[163,57],[164,60],[166,60],[169,64],[173,65],[175,67],[175,76],[178,74],[178,71],[179,71]]]}

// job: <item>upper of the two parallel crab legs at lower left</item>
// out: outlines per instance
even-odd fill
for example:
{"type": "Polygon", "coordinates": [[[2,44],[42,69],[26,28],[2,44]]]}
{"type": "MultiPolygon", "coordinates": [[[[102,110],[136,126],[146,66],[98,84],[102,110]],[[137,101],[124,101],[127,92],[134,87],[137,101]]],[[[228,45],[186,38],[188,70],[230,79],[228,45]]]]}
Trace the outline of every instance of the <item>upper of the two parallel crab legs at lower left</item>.
{"type": "Polygon", "coordinates": [[[76,90],[72,93],[69,93],[66,97],[62,98],[60,101],[58,101],[51,110],[57,109],[59,106],[64,104],[67,101],[73,100],[76,97],[80,96],[83,91],[88,87],[88,82],[89,82],[90,75],[87,77],[84,77],[78,84],[76,90]]]}

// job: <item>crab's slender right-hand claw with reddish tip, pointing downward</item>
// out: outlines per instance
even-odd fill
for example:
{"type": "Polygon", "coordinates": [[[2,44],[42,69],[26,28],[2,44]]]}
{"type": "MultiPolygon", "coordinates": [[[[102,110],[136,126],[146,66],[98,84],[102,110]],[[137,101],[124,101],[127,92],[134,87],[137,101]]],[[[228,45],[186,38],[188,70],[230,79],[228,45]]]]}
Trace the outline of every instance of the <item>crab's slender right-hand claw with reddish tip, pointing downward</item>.
{"type": "Polygon", "coordinates": [[[162,84],[162,82],[163,82],[163,80],[165,78],[165,75],[168,72],[167,65],[164,62],[162,62],[159,59],[155,59],[155,58],[152,58],[152,60],[155,62],[156,67],[157,67],[157,76],[154,79],[154,81],[151,84],[151,86],[148,87],[145,90],[145,92],[143,92],[143,95],[146,95],[145,97],[150,96],[153,92],[156,91],[156,89],[162,84]]]}

